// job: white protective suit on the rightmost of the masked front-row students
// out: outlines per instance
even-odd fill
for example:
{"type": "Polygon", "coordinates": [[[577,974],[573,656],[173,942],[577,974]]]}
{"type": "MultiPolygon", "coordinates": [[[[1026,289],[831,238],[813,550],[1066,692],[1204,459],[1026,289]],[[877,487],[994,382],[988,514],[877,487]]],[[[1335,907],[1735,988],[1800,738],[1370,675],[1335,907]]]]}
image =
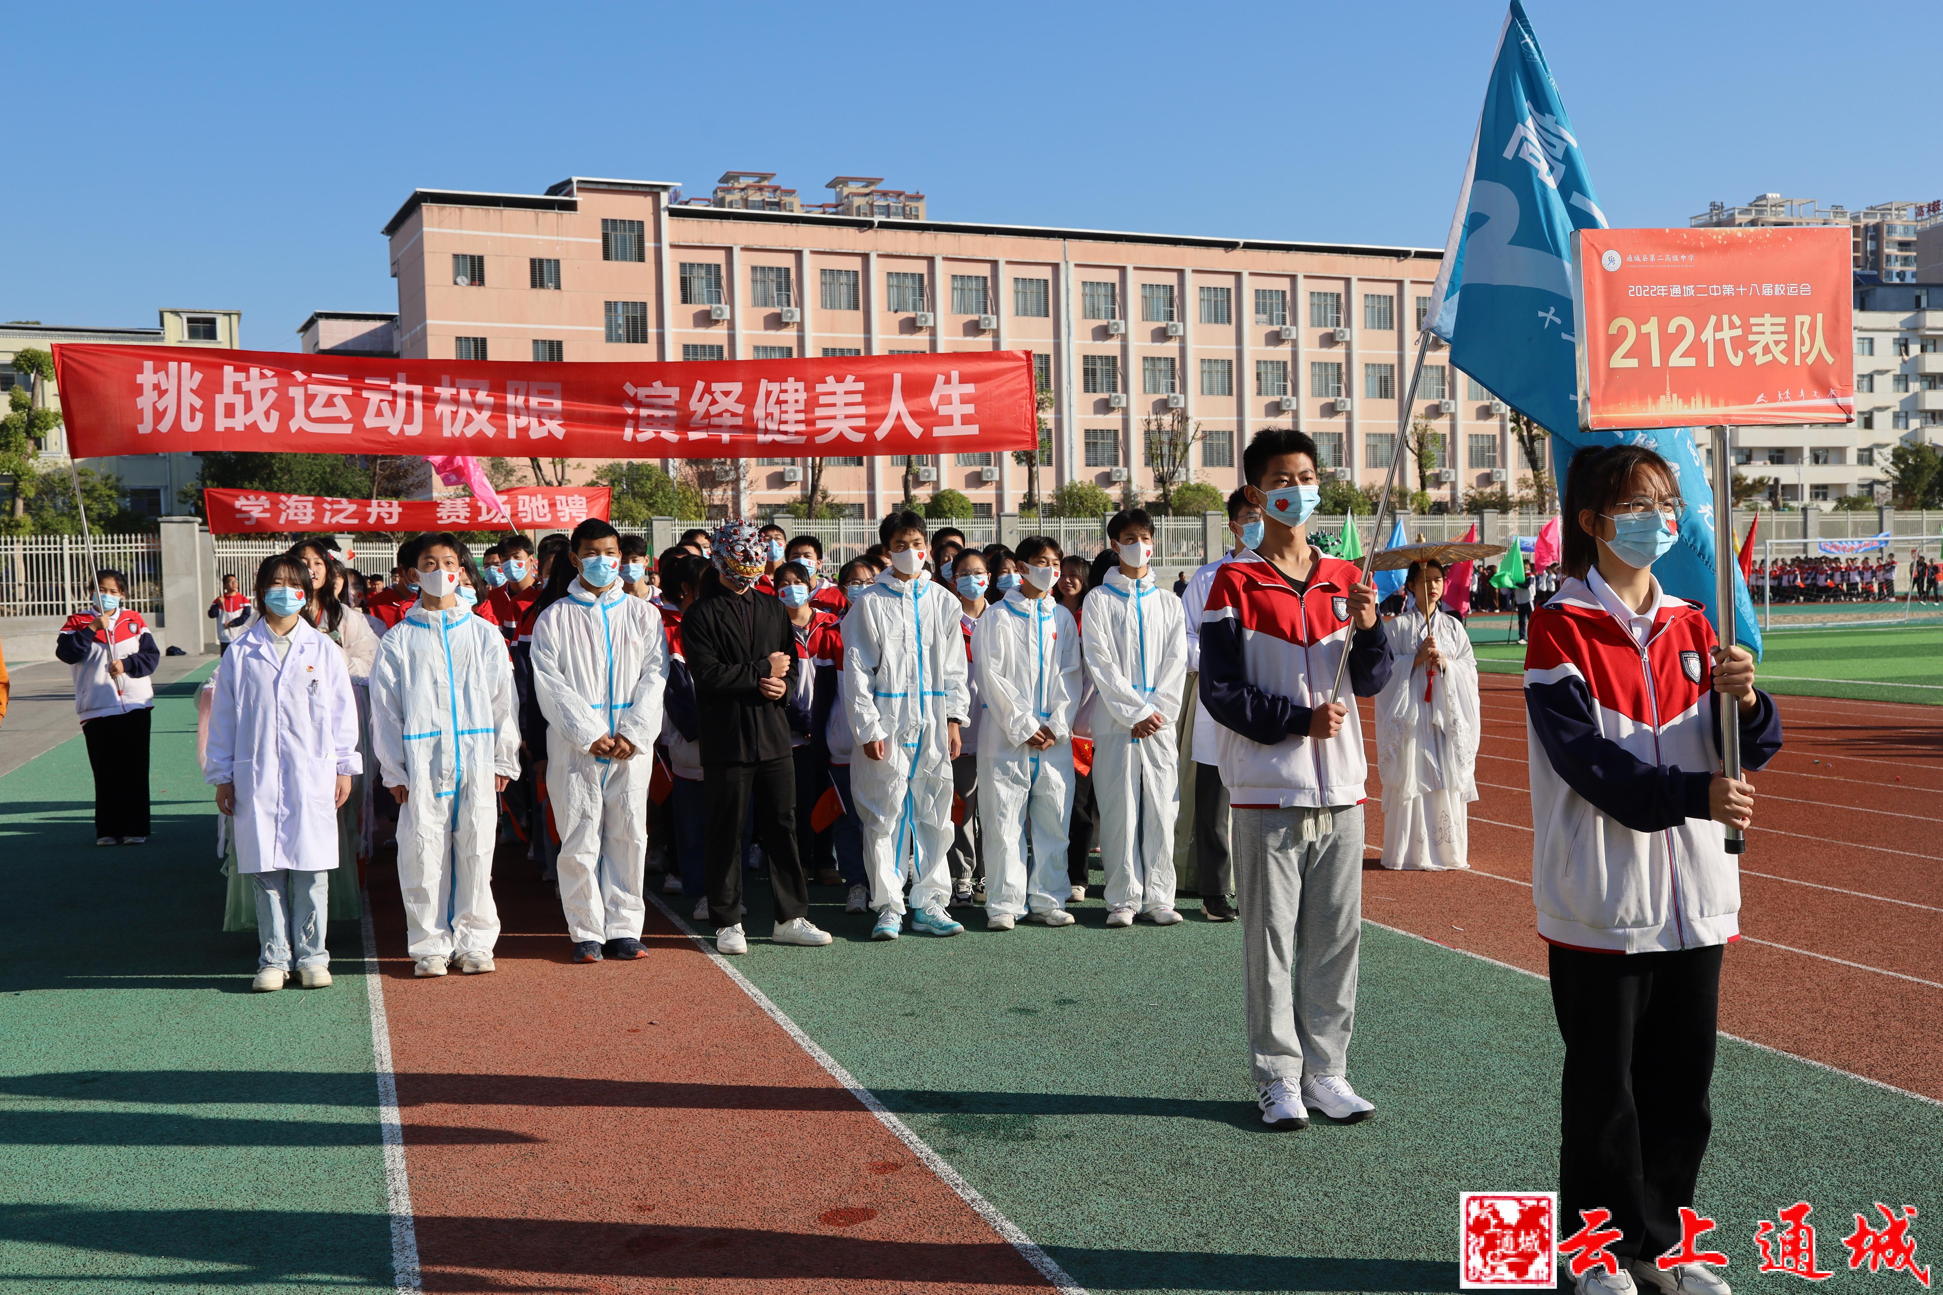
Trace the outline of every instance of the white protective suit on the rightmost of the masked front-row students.
{"type": "Polygon", "coordinates": [[[1174,722],[1187,687],[1187,623],[1181,600],[1154,582],[1154,569],[1129,581],[1119,567],[1086,594],[1080,647],[1094,701],[1094,800],[1100,806],[1100,864],[1109,909],[1156,913],[1174,907],[1174,819],[1181,808],[1174,722]],[[1137,742],[1150,714],[1166,724],[1137,742]]]}

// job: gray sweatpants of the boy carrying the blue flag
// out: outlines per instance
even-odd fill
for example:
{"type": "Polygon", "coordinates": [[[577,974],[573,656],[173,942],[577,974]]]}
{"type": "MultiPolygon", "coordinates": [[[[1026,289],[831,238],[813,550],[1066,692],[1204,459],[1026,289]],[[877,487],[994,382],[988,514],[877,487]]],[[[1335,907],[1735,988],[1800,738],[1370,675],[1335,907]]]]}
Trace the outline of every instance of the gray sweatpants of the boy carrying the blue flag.
{"type": "Polygon", "coordinates": [[[1257,1083],[1345,1074],[1362,944],[1362,806],[1234,810],[1257,1083]]]}

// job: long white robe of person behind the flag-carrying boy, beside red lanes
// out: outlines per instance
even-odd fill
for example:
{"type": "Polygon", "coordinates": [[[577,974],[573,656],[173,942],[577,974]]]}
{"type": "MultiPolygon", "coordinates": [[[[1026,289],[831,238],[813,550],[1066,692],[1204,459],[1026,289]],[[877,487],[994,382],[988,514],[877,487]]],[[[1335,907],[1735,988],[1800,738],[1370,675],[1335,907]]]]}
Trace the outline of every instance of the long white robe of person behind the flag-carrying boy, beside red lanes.
{"type": "Polygon", "coordinates": [[[1383,866],[1469,868],[1465,806],[1477,800],[1477,656],[1463,623],[1438,610],[1424,627],[1415,598],[1383,623],[1395,668],[1376,695],[1376,771],[1383,779],[1383,866]],[[1434,633],[1444,670],[1409,668],[1434,633]],[[1428,701],[1426,701],[1428,693],[1428,701]]]}

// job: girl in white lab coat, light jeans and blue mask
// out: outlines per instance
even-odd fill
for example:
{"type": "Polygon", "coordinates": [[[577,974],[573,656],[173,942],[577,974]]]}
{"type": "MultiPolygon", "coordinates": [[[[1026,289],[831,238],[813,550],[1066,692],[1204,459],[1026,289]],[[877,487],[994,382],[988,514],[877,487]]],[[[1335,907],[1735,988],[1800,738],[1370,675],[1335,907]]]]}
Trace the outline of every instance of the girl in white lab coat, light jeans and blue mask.
{"type": "Polygon", "coordinates": [[[330,984],[324,924],[338,866],[338,806],[363,773],[344,648],[303,619],[309,569],[290,555],[256,569],[256,612],[216,672],[202,775],[235,819],[237,868],[256,887],[255,990],[330,984]]]}

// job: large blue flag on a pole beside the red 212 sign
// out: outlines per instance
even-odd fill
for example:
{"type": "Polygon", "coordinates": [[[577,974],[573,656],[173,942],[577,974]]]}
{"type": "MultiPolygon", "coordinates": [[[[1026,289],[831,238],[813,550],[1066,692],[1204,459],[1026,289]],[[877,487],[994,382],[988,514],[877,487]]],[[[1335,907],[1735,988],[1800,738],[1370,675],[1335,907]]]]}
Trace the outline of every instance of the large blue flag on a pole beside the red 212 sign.
{"type": "MultiPolygon", "coordinates": [[[[1653,563],[1653,575],[1712,617],[1714,489],[1692,431],[1578,425],[1572,231],[1605,227],[1558,83],[1523,6],[1512,0],[1424,328],[1451,344],[1453,367],[1552,433],[1560,491],[1574,450],[1587,445],[1646,445],[1673,464],[1687,507],[1679,544],[1653,563]]],[[[1737,635],[1758,654],[1760,627],[1739,569],[1733,581],[1737,635]]]]}

